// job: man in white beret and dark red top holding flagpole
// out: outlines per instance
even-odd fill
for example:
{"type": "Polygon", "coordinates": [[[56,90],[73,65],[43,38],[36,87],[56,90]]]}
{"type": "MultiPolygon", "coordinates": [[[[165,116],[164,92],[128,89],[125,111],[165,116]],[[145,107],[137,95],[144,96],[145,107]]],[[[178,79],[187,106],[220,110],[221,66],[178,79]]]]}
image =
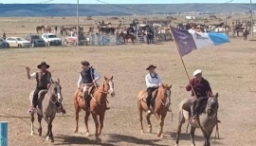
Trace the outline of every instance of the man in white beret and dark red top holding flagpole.
{"type": "Polygon", "coordinates": [[[210,97],[212,96],[212,92],[210,88],[210,83],[207,80],[205,80],[202,76],[202,70],[196,69],[193,72],[193,76],[195,78],[193,78],[190,81],[190,84],[187,85],[186,90],[191,91],[193,88],[195,93],[194,95],[192,91],[192,104],[191,104],[192,121],[194,122],[196,117],[196,111],[194,111],[194,108],[195,108],[197,99],[210,97]]]}

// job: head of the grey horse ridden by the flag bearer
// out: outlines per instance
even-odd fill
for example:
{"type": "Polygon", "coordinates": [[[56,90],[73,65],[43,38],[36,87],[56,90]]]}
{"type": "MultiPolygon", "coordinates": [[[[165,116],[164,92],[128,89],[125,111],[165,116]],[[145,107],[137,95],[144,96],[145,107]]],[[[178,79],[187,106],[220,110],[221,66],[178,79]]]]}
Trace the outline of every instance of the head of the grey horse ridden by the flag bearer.
{"type": "Polygon", "coordinates": [[[219,108],[219,103],[218,103],[218,97],[219,94],[216,93],[214,96],[210,97],[207,101],[207,113],[209,117],[214,117],[217,115],[217,111],[219,108]]]}

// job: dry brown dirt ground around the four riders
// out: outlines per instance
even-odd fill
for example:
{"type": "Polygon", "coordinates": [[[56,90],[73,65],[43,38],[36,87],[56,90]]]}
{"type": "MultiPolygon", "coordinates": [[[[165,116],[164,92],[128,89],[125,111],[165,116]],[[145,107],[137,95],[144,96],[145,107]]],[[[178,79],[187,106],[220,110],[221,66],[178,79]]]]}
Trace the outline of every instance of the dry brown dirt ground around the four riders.
{"type": "MultiPolygon", "coordinates": [[[[28,31],[28,30],[27,30],[28,31]]],[[[256,117],[255,42],[242,38],[231,39],[229,44],[193,51],[184,57],[192,77],[194,69],[203,70],[213,92],[219,97],[220,139],[216,146],[255,145],[256,117]]],[[[9,122],[10,146],[44,145],[174,145],[177,125],[178,103],[189,97],[185,91],[188,79],[180,62],[174,42],[155,45],[127,46],[64,46],[45,48],[0,49],[0,120],[9,122]],[[80,62],[88,60],[103,76],[114,76],[116,97],[109,99],[110,110],[106,112],[101,139],[95,143],[94,122],[90,118],[91,137],[85,137],[84,112],[80,115],[79,134],[74,134],[75,111],[72,96],[77,88],[80,62]],[[36,65],[46,61],[53,79],[60,78],[63,86],[64,108],[67,116],[59,114],[53,121],[55,142],[46,141],[46,122],[43,121],[43,137],[30,136],[30,119],[27,114],[28,94],[35,81],[28,81],[26,66],[36,71],[36,65]],[[157,65],[156,71],[165,83],[172,83],[172,108],[174,120],[169,113],[165,119],[164,137],[156,137],[158,124],[153,121],[153,134],[140,134],[137,112],[137,93],[145,89],[144,76],[148,64],[157,65]]],[[[35,122],[38,128],[37,122],[35,122]]],[[[144,120],[144,128],[147,128],[144,120]]],[[[190,136],[183,125],[180,145],[191,145],[190,136]]],[[[37,131],[37,130],[36,130],[37,131]]],[[[211,137],[214,137],[213,132],[211,137]]],[[[37,133],[36,133],[37,134],[37,133]]],[[[203,144],[199,129],[196,144],[203,144]]]]}

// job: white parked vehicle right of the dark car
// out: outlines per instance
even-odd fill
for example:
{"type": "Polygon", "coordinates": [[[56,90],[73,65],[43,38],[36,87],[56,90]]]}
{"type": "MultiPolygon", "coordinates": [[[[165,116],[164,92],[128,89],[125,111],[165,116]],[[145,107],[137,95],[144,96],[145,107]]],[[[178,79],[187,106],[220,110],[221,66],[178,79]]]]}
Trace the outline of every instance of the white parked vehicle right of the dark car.
{"type": "Polygon", "coordinates": [[[46,42],[47,46],[62,46],[63,42],[60,38],[57,37],[54,33],[44,33],[42,38],[46,42]]]}

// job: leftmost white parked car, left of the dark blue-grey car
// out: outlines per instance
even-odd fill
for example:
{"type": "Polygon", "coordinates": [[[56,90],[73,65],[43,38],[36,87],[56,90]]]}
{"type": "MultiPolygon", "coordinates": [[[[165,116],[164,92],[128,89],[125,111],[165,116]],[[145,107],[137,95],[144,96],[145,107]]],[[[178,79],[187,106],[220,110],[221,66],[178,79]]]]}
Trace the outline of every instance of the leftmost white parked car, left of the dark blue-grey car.
{"type": "Polygon", "coordinates": [[[21,37],[9,37],[6,39],[10,47],[29,47],[30,43],[21,37]]]}

